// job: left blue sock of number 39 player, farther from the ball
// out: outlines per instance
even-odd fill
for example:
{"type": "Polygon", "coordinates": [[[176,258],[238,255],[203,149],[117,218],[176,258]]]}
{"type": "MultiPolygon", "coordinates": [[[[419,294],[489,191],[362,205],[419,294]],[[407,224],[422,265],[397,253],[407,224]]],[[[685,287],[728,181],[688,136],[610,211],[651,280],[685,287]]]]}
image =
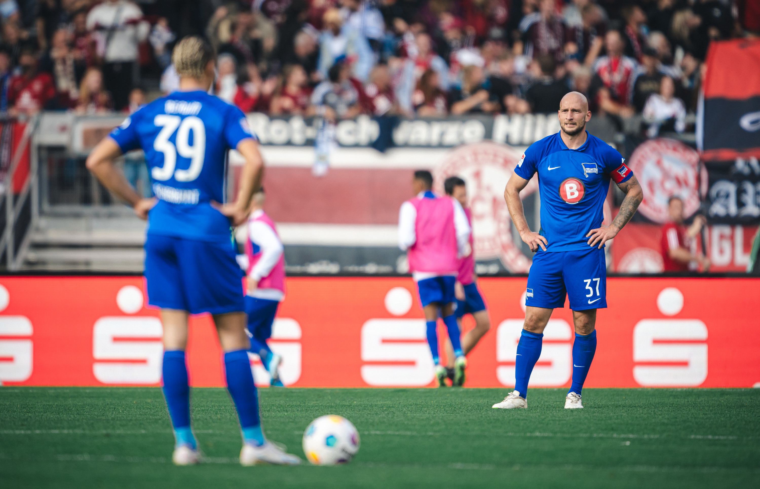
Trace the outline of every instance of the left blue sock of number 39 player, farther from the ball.
{"type": "Polygon", "coordinates": [[[197,446],[190,427],[190,387],[185,352],[170,350],[163,352],[163,396],[172,418],[176,446],[197,446]]]}

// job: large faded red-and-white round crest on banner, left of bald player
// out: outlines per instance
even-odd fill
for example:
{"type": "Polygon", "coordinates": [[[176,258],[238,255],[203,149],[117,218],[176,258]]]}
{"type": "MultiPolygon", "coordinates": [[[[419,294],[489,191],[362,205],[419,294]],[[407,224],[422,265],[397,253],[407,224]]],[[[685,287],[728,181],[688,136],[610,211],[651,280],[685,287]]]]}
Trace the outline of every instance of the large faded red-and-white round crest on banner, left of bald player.
{"type": "MultiPolygon", "coordinates": [[[[457,175],[467,182],[467,196],[472,211],[473,251],[477,260],[499,258],[514,273],[530,270],[530,258],[521,251],[511,232],[509,210],[504,201],[504,188],[520,161],[519,153],[505,144],[465,144],[451,151],[435,169],[436,191],[443,194],[443,181],[457,175]]],[[[531,178],[520,195],[533,197],[538,189],[537,178],[531,178]]]]}

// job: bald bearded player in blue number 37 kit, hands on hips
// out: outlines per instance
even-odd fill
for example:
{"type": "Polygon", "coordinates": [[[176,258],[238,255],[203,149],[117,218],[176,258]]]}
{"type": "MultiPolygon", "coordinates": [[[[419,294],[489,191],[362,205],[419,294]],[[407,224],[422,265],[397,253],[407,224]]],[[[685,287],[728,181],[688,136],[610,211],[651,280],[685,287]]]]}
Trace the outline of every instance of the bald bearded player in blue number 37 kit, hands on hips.
{"type": "Polygon", "coordinates": [[[643,192],[625,160],[586,132],[591,119],[586,97],[571,92],[559,104],[560,131],[531,144],[504,192],[509,214],[531,251],[525,323],[515,357],[515,390],[494,408],[527,408],[527,383],[541,355],[543,330],[554,308],[570,298],[575,323],[572,386],[565,409],[582,408],[581,390],[597,350],[597,309],[606,308],[604,243],[629,222],[643,192]],[[541,229],[527,226],[520,191],[538,173],[541,229]],[[625,193],[618,215],[602,226],[610,179],[625,193]]]}

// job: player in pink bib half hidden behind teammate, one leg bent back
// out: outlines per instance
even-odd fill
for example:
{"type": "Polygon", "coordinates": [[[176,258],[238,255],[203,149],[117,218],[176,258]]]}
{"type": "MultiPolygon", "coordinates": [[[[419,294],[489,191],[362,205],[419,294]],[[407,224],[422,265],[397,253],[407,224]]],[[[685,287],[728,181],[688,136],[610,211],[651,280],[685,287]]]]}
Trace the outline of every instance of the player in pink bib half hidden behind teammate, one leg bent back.
{"type": "MultiPolygon", "coordinates": [[[[446,191],[446,195],[457,200],[462,205],[465,215],[467,215],[467,222],[472,228],[472,211],[470,207],[467,207],[467,186],[459,177],[449,177],[443,183],[443,188],[446,191]]],[[[474,250],[473,242],[474,232],[470,232],[470,249],[474,250]]],[[[488,330],[491,329],[491,318],[488,315],[486,309],[486,301],[483,300],[483,296],[480,295],[480,290],[477,288],[477,275],[475,273],[475,256],[474,253],[470,253],[466,257],[459,260],[459,274],[457,276],[457,283],[454,286],[454,295],[457,298],[457,320],[459,322],[459,329],[462,327],[462,317],[464,314],[471,314],[475,320],[475,327],[462,336],[462,351],[467,356],[480,338],[483,337],[488,330]]],[[[446,373],[448,378],[451,379],[452,385],[456,379],[454,369],[454,348],[451,346],[451,342],[446,342],[446,356],[448,357],[448,364],[446,364],[446,373]]],[[[461,379],[464,383],[464,378],[461,379]]],[[[458,384],[461,385],[461,384],[458,384]]]]}

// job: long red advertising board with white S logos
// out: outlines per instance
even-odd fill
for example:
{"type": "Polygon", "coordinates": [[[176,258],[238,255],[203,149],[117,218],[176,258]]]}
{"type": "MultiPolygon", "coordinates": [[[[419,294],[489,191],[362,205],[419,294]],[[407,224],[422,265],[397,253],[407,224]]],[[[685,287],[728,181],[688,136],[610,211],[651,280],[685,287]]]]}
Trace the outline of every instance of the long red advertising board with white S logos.
{"type": "MultiPolygon", "coordinates": [[[[467,386],[514,382],[526,280],[480,279],[492,329],[470,353],[467,386]]],[[[607,302],[587,386],[760,386],[760,279],[612,278],[607,302]]],[[[192,318],[190,330],[192,385],[223,386],[211,318],[192,318]]],[[[568,386],[572,312],[557,309],[544,334],[531,385],[568,386]]],[[[5,385],[157,386],[160,335],[140,277],[0,278],[5,385]]],[[[411,279],[290,279],[271,344],[290,386],[432,386],[411,279]]],[[[252,368],[266,383],[253,356],[252,368]]]]}

